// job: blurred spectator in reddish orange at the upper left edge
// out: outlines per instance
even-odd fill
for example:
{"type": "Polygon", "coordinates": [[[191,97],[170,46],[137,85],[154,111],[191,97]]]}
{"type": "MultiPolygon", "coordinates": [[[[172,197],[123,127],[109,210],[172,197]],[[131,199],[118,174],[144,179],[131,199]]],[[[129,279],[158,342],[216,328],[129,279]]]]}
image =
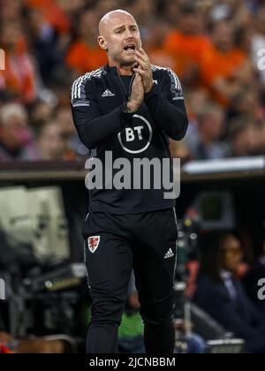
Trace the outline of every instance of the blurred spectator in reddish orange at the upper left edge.
{"type": "Polygon", "coordinates": [[[0,95],[25,104],[34,102],[37,75],[19,22],[1,24],[0,47],[5,52],[5,70],[0,71],[0,95]]]}

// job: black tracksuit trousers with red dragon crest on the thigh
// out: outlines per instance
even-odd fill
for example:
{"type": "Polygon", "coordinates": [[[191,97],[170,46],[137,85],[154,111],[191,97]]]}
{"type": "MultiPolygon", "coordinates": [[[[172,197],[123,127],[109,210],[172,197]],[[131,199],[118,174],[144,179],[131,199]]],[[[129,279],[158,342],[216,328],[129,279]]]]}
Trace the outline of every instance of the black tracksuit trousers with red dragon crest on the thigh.
{"type": "Polygon", "coordinates": [[[171,353],[175,332],[173,281],[178,227],[174,208],[132,215],[89,214],[85,260],[92,297],[88,353],[117,350],[132,269],[139,292],[148,353],[171,353]]]}

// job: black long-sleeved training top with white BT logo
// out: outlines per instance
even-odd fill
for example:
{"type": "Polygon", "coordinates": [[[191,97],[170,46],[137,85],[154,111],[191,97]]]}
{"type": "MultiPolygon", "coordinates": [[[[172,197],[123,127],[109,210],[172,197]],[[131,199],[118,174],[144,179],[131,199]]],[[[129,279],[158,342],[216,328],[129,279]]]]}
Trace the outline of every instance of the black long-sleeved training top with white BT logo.
{"type": "MultiPolygon", "coordinates": [[[[170,69],[152,66],[152,90],[135,115],[125,113],[133,77],[119,76],[116,67],[103,66],[76,79],[71,105],[79,138],[104,163],[106,151],[113,162],[126,158],[170,158],[169,138],[182,140],[187,130],[186,108],[177,75],[170,69]]],[[[151,182],[152,183],[152,182],[151,182]]],[[[153,184],[153,183],[152,183],[153,184]]],[[[90,210],[127,214],[171,208],[164,189],[93,190],[90,210]]]]}

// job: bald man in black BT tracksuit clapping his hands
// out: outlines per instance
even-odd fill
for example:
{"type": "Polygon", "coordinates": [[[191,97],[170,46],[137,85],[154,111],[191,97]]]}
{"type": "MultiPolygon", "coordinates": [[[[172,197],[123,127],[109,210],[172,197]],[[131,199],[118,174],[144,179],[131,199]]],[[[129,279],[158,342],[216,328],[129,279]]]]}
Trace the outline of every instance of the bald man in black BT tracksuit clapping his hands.
{"type": "MultiPolygon", "coordinates": [[[[102,163],[107,151],[113,161],[125,158],[130,163],[135,158],[170,158],[169,137],[181,140],[187,129],[178,77],[150,64],[131,14],[111,11],[102,18],[99,32],[109,64],[72,85],[72,115],[80,139],[102,163]]],[[[88,353],[116,352],[132,268],[146,350],[173,352],[178,231],[175,201],[164,200],[163,191],[153,184],[148,190],[107,185],[90,192],[84,228],[93,299],[88,353]]]]}

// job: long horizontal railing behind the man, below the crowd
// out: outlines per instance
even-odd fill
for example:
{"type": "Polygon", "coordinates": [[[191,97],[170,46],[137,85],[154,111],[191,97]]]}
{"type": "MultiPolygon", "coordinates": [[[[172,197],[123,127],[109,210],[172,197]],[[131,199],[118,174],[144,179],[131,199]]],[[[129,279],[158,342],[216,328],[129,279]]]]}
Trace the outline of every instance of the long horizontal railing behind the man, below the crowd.
{"type": "MultiPolygon", "coordinates": [[[[265,158],[223,160],[217,163],[189,163],[181,171],[182,183],[265,178],[265,158]],[[225,163],[227,162],[227,170],[225,163]],[[241,163],[240,163],[241,162],[241,163]],[[246,166],[245,166],[245,163],[246,166]],[[191,167],[191,165],[193,165],[191,167]],[[239,166],[240,165],[240,166],[239,166]],[[211,170],[212,169],[212,170],[211,170]]],[[[83,181],[87,176],[85,161],[0,163],[0,185],[24,183],[83,181]]]]}

